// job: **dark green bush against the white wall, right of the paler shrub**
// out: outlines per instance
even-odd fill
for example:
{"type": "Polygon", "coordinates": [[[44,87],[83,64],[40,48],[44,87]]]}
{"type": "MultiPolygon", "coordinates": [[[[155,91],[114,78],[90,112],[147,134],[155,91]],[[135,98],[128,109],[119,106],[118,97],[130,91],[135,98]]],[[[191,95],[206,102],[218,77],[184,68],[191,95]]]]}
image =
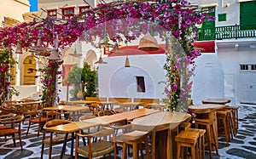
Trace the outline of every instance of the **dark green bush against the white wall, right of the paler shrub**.
{"type": "Polygon", "coordinates": [[[96,71],[90,70],[90,65],[84,63],[81,74],[82,88],[85,97],[96,97],[96,71]]]}

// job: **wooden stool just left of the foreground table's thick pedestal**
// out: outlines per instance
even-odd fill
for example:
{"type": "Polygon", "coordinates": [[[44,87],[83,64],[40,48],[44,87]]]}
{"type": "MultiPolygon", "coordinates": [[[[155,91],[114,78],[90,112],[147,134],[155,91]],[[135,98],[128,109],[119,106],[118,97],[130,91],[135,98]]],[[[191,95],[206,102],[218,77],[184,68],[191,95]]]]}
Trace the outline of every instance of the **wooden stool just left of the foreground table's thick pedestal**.
{"type": "Polygon", "coordinates": [[[134,159],[138,159],[138,147],[140,146],[141,156],[143,158],[142,143],[145,143],[146,158],[149,159],[149,148],[148,148],[148,132],[134,130],[130,133],[120,134],[117,139],[123,142],[123,159],[126,159],[126,146],[132,145],[132,154],[134,159]]]}

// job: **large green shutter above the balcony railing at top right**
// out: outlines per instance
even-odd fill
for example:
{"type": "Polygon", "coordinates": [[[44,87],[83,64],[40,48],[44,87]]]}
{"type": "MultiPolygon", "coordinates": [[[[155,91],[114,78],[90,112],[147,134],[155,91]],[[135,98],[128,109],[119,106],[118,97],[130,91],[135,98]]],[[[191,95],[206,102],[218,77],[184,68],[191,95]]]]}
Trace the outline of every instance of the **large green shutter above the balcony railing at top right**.
{"type": "Polygon", "coordinates": [[[240,3],[240,25],[256,25],[256,1],[240,3]]]}

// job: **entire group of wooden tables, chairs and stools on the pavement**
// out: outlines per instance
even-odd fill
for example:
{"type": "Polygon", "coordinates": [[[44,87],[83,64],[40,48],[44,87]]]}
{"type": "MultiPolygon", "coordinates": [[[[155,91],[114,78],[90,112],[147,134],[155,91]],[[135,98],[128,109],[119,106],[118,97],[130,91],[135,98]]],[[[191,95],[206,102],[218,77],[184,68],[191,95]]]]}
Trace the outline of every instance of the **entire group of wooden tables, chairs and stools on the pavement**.
{"type": "MultiPolygon", "coordinates": [[[[13,114],[0,111],[0,132],[8,132],[15,126],[19,133],[23,122],[26,133],[19,136],[20,150],[23,144],[21,139],[25,139],[26,135],[30,136],[32,132],[37,133],[42,158],[52,156],[54,145],[61,147],[60,158],[106,155],[116,158],[119,156],[119,147],[122,148],[122,158],[129,157],[131,153],[134,159],[142,156],[147,159],[206,158],[206,153],[209,158],[214,158],[213,156],[219,155],[219,138],[224,136],[226,145],[229,146],[238,132],[238,107],[228,105],[228,99],[223,100],[221,101],[224,103],[221,103],[217,99],[219,103],[216,104],[216,100],[207,99],[202,102],[207,101],[207,104],[201,105],[193,105],[193,101],[189,100],[188,112],[166,111],[166,103],[160,102],[160,99],[94,97],[71,102],[61,101],[61,105],[41,110],[40,102],[37,101],[38,109],[26,115],[15,110],[13,114]],[[94,105],[93,109],[91,105],[94,105]],[[123,111],[114,111],[117,108],[123,111]],[[221,113],[224,116],[220,116],[221,113]],[[18,116],[19,120],[16,120],[18,116]],[[12,121],[13,118],[15,122],[21,121],[20,125],[8,126],[9,122],[5,121],[12,121]],[[90,128],[93,130],[90,131],[90,128]],[[106,135],[108,137],[102,138],[106,135]],[[49,150],[45,150],[44,145],[49,145],[49,150]],[[68,152],[67,145],[70,147],[68,152]]],[[[24,103],[36,105],[35,101],[24,103]]],[[[16,104],[9,104],[9,109],[12,109],[11,105],[16,104]]],[[[0,134],[3,141],[7,140],[9,133],[0,134]]],[[[15,140],[13,144],[16,144],[15,140]]]]}

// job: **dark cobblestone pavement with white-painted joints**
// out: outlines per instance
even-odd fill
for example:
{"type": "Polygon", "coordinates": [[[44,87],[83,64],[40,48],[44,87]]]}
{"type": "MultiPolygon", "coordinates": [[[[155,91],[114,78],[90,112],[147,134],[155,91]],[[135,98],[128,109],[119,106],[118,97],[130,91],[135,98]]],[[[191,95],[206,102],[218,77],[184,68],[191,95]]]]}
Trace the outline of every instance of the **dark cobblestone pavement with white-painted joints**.
{"type": "MultiPolygon", "coordinates": [[[[219,156],[213,152],[213,158],[230,158],[230,159],[255,159],[256,158],[256,107],[252,105],[242,105],[239,109],[239,130],[236,137],[226,145],[224,139],[219,139],[219,156]]],[[[37,136],[37,125],[30,128],[26,136],[27,122],[22,126],[22,145],[24,150],[20,150],[20,143],[13,145],[12,140],[0,142],[0,159],[20,159],[30,158],[38,159],[41,153],[42,135],[37,136]]],[[[119,147],[119,156],[121,156],[119,147]]],[[[67,152],[70,153],[70,144],[67,144],[67,152]]],[[[60,158],[61,145],[55,145],[53,148],[52,158],[60,158]]],[[[44,150],[44,158],[48,158],[48,146],[44,150]]],[[[64,158],[69,158],[65,156],[64,158]]],[[[113,156],[111,157],[113,158],[113,156]]],[[[121,157],[118,157],[121,158],[121,157]]],[[[130,159],[132,157],[129,157],[130,159]]],[[[207,158],[209,158],[207,153],[207,158]]]]}

